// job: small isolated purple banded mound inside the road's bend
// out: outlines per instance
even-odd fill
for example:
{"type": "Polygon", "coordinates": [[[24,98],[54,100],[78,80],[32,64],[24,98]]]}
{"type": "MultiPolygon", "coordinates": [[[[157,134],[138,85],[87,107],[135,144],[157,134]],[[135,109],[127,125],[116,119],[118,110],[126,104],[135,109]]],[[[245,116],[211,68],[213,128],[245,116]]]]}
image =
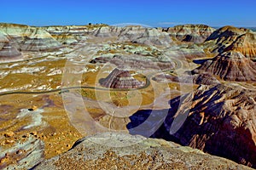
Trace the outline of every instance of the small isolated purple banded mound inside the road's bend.
{"type": "Polygon", "coordinates": [[[140,82],[131,76],[129,71],[115,68],[106,78],[102,78],[100,83],[105,88],[142,88],[145,82],[140,82]]]}

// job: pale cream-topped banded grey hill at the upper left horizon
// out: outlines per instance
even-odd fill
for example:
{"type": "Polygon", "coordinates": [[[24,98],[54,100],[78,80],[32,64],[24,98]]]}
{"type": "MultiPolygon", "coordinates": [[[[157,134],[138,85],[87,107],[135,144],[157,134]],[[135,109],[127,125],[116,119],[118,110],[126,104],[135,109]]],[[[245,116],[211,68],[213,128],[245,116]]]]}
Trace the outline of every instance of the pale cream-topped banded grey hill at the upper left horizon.
{"type": "Polygon", "coordinates": [[[40,27],[0,24],[0,31],[21,51],[51,51],[61,48],[61,43],[40,27]]]}

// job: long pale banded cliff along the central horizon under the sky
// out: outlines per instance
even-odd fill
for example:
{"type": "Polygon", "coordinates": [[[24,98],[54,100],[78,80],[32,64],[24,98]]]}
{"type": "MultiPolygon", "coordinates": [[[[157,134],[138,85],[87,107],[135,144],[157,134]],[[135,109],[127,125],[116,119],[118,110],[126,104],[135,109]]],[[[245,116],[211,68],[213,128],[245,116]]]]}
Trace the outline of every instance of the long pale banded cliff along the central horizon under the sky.
{"type": "Polygon", "coordinates": [[[109,38],[119,42],[138,42],[143,44],[170,46],[172,39],[166,32],[156,28],[145,28],[143,26],[48,26],[44,27],[53,37],[61,42],[76,42],[80,37],[109,38]],[[68,35],[68,36],[66,36],[68,35]],[[75,36],[75,39],[73,38],[75,36]],[[66,39],[66,40],[65,40],[66,39]]]}

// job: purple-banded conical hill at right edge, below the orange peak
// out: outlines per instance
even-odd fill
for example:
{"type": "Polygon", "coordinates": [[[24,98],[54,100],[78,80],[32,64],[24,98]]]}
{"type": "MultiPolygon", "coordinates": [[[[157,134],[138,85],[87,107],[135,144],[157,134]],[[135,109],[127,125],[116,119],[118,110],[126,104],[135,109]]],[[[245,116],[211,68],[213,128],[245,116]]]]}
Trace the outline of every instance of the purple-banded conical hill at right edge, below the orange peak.
{"type": "Polygon", "coordinates": [[[256,81],[256,64],[236,51],[228,51],[208,59],[192,73],[210,73],[226,81],[256,81]]]}

